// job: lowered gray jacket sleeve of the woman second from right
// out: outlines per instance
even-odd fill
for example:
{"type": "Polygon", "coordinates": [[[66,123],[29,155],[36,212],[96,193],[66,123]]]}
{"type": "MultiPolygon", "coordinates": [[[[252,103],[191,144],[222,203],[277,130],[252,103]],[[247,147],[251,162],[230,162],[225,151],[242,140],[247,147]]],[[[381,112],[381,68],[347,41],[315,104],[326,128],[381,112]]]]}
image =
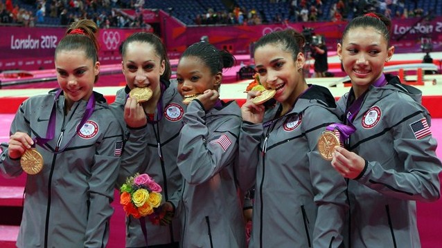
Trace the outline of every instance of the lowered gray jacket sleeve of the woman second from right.
{"type": "Polygon", "coordinates": [[[333,169],[330,161],[324,160],[318,151],[317,142],[328,124],[339,122],[326,108],[313,106],[304,111],[302,128],[310,152],[308,164],[315,203],[318,206],[313,247],[339,247],[342,245],[342,230],[348,204],[345,179],[333,169]]]}

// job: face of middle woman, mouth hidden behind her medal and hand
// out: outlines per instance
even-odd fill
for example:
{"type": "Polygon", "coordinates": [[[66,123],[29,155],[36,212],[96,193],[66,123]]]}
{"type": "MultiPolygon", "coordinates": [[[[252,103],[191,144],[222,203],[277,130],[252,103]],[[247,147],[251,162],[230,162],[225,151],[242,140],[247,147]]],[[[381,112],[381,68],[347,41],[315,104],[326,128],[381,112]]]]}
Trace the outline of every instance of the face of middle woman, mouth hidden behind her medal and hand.
{"type": "Polygon", "coordinates": [[[204,61],[195,56],[182,57],[177,66],[178,92],[183,97],[202,94],[205,90],[218,90],[222,73],[212,75],[204,61]]]}

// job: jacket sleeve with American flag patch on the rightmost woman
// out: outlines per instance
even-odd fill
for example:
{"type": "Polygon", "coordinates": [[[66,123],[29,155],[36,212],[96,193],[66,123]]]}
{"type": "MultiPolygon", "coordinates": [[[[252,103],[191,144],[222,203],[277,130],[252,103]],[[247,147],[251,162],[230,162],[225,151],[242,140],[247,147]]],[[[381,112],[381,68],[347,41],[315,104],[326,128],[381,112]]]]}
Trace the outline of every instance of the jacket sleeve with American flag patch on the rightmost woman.
{"type": "Polygon", "coordinates": [[[367,161],[365,171],[357,181],[394,198],[424,202],[438,200],[442,165],[436,157],[437,142],[431,135],[430,115],[416,102],[400,101],[396,105],[388,120],[400,122],[388,125],[392,127],[394,139],[390,145],[396,152],[391,159],[399,160],[393,162],[400,164],[401,169],[384,169],[378,161],[367,161]],[[404,117],[404,113],[410,114],[404,117]],[[425,122],[428,127],[425,127],[425,122]]]}

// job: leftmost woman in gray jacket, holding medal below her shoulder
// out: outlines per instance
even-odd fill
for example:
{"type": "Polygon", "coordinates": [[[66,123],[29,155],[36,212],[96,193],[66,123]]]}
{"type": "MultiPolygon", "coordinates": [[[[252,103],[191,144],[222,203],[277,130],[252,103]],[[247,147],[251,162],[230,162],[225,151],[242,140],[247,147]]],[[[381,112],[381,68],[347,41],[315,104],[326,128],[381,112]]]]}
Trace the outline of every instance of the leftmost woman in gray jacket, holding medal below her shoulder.
{"type": "Polygon", "coordinates": [[[105,247],[123,133],[103,95],[98,27],[73,23],[55,48],[60,88],[19,106],[0,171],[24,171],[23,218],[17,247],[105,247]]]}

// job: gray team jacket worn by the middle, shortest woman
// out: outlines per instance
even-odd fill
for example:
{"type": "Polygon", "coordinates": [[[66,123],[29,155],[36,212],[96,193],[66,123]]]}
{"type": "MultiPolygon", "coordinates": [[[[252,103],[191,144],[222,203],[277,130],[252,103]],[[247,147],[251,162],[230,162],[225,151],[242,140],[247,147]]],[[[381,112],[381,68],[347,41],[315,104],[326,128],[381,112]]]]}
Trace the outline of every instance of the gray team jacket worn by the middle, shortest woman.
{"type": "Polygon", "coordinates": [[[182,247],[244,248],[245,223],[236,187],[240,108],[234,101],[184,114],[178,167],[184,178],[182,247]]]}

